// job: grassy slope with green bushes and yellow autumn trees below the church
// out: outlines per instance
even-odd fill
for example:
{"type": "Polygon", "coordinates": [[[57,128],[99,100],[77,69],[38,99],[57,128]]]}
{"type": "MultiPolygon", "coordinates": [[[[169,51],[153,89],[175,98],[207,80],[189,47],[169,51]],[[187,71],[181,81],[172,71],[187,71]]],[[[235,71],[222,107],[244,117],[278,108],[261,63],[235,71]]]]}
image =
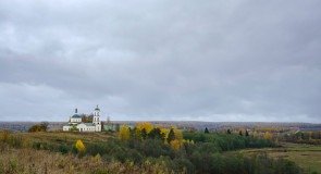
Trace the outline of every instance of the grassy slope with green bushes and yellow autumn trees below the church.
{"type": "Polygon", "coordinates": [[[18,134],[2,130],[0,173],[305,173],[287,158],[237,152],[249,148],[275,149],[273,138],[246,132],[181,132],[148,123],[134,128],[123,125],[119,129],[18,134]]]}

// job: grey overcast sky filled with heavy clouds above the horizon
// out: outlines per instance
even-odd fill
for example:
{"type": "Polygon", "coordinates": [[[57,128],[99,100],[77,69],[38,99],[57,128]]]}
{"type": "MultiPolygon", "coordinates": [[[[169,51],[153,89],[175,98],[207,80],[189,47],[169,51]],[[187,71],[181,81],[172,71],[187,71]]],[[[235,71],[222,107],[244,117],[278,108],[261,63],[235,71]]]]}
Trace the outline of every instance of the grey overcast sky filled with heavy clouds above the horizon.
{"type": "Polygon", "coordinates": [[[319,0],[1,0],[0,121],[320,122],[319,0]]]}

